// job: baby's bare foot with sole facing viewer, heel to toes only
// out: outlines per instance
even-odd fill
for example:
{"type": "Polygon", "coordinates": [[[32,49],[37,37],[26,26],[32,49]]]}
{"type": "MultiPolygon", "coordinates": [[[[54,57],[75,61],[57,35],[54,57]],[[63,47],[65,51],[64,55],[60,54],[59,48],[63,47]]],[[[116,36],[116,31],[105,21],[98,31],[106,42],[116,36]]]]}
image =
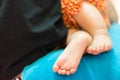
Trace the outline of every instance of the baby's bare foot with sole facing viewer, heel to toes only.
{"type": "Polygon", "coordinates": [[[78,36],[72,40],[57,59],[53,71],[63,75],[75,73],[87,45],[87,38],[78,36]]]}

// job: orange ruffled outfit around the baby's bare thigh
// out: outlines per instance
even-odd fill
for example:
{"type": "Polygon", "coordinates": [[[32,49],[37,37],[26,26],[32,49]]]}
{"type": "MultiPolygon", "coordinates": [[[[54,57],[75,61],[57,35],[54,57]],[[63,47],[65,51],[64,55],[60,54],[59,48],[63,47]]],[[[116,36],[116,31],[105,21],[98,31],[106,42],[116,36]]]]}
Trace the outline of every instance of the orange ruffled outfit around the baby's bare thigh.
{"type": "Polygon", "coordinates": [[[80,28],[77,22],[74,20],[72,15],[79,12],[79,8],[82,1],[88,1],[94,5],[102,14],[106,25],[109,26],[109,19],[106,13],[106,2],[105,0],[61,0],[61,11],[63,15],[64,24],[67,28],[80,28]]]}

